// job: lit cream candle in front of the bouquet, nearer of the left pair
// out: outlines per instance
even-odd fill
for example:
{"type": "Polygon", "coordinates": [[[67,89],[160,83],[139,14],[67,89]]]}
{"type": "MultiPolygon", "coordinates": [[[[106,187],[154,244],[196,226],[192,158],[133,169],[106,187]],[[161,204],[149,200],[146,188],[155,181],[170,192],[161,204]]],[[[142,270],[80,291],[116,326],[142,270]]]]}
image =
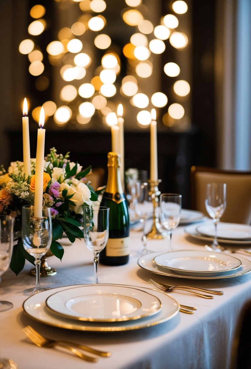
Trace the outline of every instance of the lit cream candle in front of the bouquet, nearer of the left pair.
{"type": "Polygon", "coordinates": [[[38,129],[38,143],[36,146],[36,170],[35,170],[35,201],[34,217],[42,217],[43,206],[43,166],[45,158],[45,130],[42,129],[45,123],[45,112],[43,107],[40,110],[38,129]]]}

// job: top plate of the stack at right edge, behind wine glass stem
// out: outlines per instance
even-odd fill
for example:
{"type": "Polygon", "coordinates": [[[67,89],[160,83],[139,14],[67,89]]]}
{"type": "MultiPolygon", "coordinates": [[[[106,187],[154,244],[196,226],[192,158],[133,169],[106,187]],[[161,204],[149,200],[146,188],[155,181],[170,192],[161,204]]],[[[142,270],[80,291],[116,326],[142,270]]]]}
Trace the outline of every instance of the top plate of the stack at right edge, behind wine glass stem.
{"type": "MultiPolygon", "coordinates": [[[[201,224],[196,227],[196,231],[208,237],[215,236],[214,224],[201,224]]],[[[217,225],[217,237],[236,240],[251,240],[251,226],[248,224],[224,223],[217,225]]]]}

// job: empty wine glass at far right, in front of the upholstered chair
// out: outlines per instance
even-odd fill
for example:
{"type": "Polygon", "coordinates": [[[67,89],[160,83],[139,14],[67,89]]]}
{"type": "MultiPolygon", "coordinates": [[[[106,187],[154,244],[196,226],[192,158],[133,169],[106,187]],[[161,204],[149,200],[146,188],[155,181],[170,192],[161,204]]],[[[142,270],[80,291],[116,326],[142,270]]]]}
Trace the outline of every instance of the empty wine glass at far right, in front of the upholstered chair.
{"type": "Polygon", "coordinates": [[[226,183],[207,183],[206,184],[206,199],[205,206],[206,211],[213,218],[215,225],[215,237],[212,245],[205,245],[205,248],[209,251],[222,251],[222,247],[218,244],[217,240],[217,224],[220,221],[225,209],[226,209],[226,183]]]}

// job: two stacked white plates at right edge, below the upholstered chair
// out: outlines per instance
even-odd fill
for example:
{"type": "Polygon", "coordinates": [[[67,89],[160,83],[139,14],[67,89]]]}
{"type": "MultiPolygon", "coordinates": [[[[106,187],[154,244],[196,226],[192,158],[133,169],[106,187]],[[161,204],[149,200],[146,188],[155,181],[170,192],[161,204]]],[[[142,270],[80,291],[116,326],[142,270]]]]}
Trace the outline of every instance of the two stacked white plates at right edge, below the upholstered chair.
{"type": "MultiPolygon", "coordinates": [[[[193,238],[211,242],[215,235],[215,226],[211,222],[192,224],[185,227],[185,233],[193,238]]],[[[248,224],[223,223],[217,225],[219,243],[232,245],[251,245],[251,226],[248,224]]]]}

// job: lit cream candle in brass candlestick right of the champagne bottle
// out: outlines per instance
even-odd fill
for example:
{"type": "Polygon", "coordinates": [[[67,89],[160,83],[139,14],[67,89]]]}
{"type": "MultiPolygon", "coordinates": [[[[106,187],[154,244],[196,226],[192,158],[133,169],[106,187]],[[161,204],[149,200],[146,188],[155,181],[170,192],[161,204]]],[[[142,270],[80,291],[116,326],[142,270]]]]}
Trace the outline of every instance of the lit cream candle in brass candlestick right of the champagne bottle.
{"type": "Polygon", "coordinates": [[[151,110],[152,121],[150,124],[150,179],[158,180],[158,149],[157,149],[157,122],[156,110],[151,110]]]}

